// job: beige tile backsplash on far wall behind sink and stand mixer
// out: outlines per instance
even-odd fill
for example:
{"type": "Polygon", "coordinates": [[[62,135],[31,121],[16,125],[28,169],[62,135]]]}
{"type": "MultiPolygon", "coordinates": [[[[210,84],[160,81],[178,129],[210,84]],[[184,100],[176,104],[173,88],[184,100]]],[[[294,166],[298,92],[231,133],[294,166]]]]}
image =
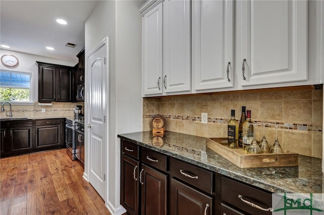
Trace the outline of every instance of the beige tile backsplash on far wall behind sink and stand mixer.
{"type": "MultiPolygon", "coordinates": [[[[34,105],[12,105],[12,114],[14,118],[69,117],[74,116],[75,105],[84,107],[84,102],[52,102],[52,104],[52,106],[43,106],[35,102],[34,105]],[[46,112],[42,113],[42,109],[45,109],[46,112]]],[[[5,112],[0,112],[0,119],[8,118],[6,114],[9,114],[9,109],[9,105],[5,104],[5,112]]]]}

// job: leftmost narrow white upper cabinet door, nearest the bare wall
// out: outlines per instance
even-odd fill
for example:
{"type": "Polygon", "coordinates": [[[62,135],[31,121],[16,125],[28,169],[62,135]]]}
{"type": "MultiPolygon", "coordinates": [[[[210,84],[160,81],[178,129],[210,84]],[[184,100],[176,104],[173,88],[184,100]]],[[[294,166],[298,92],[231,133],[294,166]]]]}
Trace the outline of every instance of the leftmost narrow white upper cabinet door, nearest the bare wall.
{"type": "Polygon", "coordinates": [[[143,94],[162,93],[163,88],[163,5],[144,14],[143,24],[143,94]]]}

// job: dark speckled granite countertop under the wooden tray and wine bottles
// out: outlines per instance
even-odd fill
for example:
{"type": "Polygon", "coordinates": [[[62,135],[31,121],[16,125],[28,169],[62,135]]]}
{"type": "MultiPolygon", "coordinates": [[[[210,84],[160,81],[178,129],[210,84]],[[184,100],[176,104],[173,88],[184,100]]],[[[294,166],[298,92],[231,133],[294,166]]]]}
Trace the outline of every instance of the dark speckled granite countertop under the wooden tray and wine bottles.
{"type": "Polygon", "coordinates": [[[205,137],[167,131],[161,147],[152,145],[152,131],[118,137],[273,193],[324,193],[319,158],[299,155],[297,167],[239,168],[207,148],[205,137]]]}

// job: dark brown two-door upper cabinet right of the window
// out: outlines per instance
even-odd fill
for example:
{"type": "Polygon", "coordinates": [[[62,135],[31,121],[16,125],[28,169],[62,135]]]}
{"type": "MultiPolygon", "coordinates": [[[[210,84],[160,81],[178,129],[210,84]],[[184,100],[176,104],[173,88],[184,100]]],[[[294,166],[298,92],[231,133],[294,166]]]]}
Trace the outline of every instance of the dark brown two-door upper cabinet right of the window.
{"type": "Polygon", "coordinates": [[[73,68],[68,66],[37,62],[38,101],[71,102],[73,68]]]}

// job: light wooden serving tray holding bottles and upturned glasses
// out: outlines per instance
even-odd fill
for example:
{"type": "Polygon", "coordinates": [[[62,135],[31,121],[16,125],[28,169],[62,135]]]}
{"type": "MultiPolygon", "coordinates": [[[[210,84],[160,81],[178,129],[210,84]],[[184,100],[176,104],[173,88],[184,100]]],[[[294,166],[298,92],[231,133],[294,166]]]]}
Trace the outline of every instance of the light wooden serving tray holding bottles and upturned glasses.
{"type": "Polygon", "coordinates": [[[298,166],[298,153],[248,154],[241,148],[229,148],[223,140],[227,138],[207,138],[206,145],[239,168],[298,166]]]}

